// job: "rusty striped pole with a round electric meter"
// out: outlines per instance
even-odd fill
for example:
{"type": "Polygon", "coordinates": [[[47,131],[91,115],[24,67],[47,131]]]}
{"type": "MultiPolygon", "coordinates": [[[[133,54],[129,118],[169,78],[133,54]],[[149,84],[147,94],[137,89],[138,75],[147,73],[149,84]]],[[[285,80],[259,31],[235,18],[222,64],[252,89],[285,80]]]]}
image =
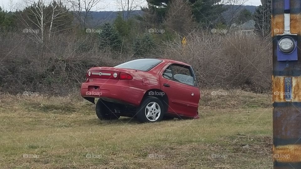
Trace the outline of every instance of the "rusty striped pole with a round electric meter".
{"type": "Polygon", "coordinates": [[[301,169],[301,0],[272,0],[274,169],[301,169]]]}

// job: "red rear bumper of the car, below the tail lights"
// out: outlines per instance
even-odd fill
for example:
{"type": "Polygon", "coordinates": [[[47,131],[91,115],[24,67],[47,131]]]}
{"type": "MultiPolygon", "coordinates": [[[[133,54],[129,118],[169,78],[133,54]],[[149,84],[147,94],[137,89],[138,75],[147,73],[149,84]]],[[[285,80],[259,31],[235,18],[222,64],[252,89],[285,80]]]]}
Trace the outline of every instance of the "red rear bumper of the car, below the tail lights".
{"type": "Polygon", "coordinates": [[[145,92],[143,89],[117,84],[82,83],[81,87],[82,97],[107,98],[134,106],[140,105],[145,92]]]}

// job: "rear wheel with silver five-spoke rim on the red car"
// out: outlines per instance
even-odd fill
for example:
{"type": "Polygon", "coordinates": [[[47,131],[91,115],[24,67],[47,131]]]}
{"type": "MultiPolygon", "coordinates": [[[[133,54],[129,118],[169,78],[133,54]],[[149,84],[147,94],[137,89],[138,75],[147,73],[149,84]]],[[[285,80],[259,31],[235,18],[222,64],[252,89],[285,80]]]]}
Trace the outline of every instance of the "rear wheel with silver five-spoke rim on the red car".
{"type": "Polygon", "coordinates": [[[138,108],[137,119],[141,123],[157,122],[163,119],[164,114],[165,110],[161,100],[147,96],[138,108]]]}

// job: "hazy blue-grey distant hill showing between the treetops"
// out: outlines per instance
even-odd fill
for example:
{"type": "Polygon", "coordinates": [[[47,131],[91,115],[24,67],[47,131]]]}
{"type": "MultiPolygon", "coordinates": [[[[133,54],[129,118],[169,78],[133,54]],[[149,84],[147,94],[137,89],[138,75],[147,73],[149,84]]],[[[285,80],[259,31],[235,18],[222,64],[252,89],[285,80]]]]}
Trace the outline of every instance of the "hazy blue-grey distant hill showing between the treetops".
{"type": "MultiPolygon", "coordinates": [[[[229,5],[225,5],[225,7],[228,7],[228,10],[223,12],[222,15],[226,22],[230,21],[230,19],[232,18],[232,13],[234,13],[234,15],[237,15],[243,8],[246,8],[251,13],[254,13],[256,10],[256,6],[252,6],[252,5],[246,5],[246,6],[234,5],[233,8],[230,7],[229,5]]],[[[87,25],[97,26],[97,25],[101,25],[104,22],[113,22],[114,19],[117,17],[118,13],[121,13],[121,12],[120,11],[93,12],[87,21],[87,25]]],[[[126,16],[126,12],[124,13],[124,15],[126,16]]],[[[141,11],[141,10],[133,11],[132,16],[134,16],[134,15],[143,16],[143,11],[141,11]]]]}

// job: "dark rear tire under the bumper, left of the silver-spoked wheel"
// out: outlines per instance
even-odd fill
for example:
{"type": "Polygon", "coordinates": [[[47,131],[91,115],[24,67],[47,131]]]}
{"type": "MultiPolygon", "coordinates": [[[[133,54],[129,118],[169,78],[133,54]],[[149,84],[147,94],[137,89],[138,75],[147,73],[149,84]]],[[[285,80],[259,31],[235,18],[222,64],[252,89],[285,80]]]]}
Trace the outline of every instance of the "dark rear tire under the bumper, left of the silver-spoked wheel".
{"type": "Polygon", "coordinates": [[[101,99],[98,99],[95,111],[98,119],[100,120],[116,120],[120,117],[120,113],[115,113],[117,110],[114,103],[101,99]]]}

